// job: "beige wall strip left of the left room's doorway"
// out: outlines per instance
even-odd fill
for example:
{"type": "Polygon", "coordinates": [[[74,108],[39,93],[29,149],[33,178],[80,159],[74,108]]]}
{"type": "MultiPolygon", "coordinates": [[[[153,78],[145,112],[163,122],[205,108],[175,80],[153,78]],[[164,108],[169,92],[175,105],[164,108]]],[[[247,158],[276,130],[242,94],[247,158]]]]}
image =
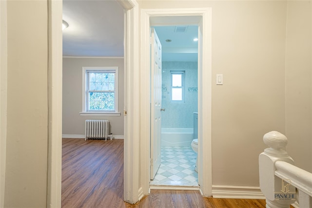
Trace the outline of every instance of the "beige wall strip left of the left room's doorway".
{"type": "Polygon", "coordinates": [[[7,2],[7,136],[4,207],[46,207],[47,6],[45,0],[7,2]]]}

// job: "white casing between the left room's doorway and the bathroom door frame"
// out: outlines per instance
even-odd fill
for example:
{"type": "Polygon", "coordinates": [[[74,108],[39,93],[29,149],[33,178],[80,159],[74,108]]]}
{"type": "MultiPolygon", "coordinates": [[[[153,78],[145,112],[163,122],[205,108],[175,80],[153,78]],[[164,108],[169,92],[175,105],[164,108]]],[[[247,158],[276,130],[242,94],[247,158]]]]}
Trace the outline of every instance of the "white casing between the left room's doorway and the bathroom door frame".
{"type": "Polygon", "coordinates": [[[139,8],[136,0],[117,0],[124,8],[124,161],[123,199],[143,198],[139,184],[139,8]]]}

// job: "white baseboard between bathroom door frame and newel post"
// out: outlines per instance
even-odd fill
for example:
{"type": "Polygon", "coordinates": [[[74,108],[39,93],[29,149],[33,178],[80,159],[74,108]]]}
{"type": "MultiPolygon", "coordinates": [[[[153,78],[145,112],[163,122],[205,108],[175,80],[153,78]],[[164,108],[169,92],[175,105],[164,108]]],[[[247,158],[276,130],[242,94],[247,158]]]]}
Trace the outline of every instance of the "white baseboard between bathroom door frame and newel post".
{"type": "Polygon", "coordinates": [[[265,199],[260,187],[218,185],[213,185],[213,197],[227,199],[265,199]]]}

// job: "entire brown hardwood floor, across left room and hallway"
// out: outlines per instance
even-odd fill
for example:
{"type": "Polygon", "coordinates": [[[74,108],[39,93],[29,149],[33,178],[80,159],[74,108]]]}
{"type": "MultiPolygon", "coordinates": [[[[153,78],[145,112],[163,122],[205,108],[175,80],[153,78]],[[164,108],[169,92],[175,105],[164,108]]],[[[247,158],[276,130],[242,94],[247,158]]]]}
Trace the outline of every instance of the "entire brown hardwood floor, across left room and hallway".
{"type": "Polygon", "coordinates": [[[63,138],[62,208],[265,208],[265,200],[203,198],[199,191],[151,190],[123,201],[123,140],[63,138]]]}

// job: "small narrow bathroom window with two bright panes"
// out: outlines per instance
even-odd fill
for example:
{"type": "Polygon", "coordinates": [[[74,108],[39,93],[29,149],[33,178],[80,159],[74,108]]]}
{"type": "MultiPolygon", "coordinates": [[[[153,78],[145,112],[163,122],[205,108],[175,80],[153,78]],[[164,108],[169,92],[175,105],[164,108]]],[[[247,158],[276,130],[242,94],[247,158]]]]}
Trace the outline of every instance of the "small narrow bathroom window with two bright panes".
{"type": "Polygon", "coordinates": [[[184,102],[184,71],[170,71],[171,73],[171,101],[184,102]]]}

